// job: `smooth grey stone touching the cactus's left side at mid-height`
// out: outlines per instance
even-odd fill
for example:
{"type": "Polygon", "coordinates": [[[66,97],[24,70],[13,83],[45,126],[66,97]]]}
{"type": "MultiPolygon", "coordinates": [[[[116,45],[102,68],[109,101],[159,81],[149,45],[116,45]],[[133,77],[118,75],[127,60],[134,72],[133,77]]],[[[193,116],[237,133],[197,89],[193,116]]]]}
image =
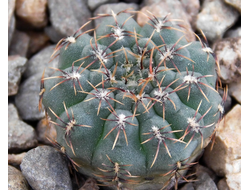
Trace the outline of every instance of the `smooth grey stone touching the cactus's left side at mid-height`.
{"type": "Polygon", "coordinates": [[[42,73],[38,73],[24,80],[15,96],[16,107],[24,120],[35,121],[45,116],[38,110],[41,77],[42,73]]]}

